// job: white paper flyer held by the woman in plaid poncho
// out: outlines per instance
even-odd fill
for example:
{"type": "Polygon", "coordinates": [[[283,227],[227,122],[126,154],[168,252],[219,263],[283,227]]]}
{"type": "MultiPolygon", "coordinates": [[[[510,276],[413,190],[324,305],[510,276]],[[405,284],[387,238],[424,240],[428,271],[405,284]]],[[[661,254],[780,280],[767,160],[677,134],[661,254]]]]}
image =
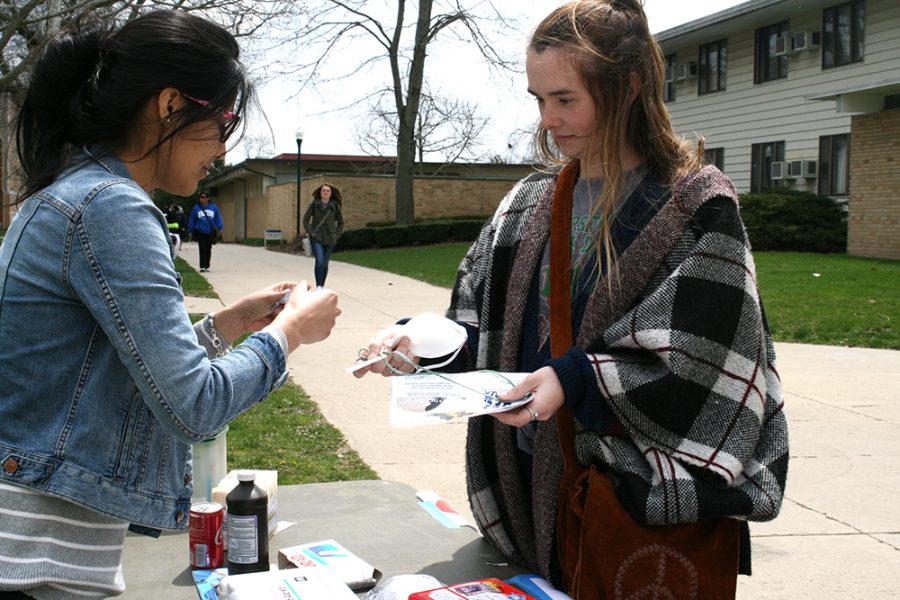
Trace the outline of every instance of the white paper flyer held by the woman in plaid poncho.
{"type": "Polygon", "coordinates": [[[503,402],[497,394],[514,387],[527,375],[470,371],[393,377],[391,425],[414,427],[448,423],[519,408],[531,401],[531,394],[515,402],[503,402]]]}

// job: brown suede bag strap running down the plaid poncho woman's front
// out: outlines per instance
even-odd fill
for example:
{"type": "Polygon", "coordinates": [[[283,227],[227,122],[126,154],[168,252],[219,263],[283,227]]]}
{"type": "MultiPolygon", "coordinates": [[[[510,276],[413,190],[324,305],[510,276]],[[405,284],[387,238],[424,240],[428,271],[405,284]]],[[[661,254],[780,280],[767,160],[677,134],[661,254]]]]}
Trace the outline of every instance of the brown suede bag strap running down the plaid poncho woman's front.
{"type": "MultiPolygon", "coordinates": [[[[572,346],[572,194],[578,179],[578,161],[563,167],[556,182],[550,211],[550,354],[558,358],[572,346]]],[[[563,471],[577,467],[575,420],[572,412],[556,413],[563,471]]]]}

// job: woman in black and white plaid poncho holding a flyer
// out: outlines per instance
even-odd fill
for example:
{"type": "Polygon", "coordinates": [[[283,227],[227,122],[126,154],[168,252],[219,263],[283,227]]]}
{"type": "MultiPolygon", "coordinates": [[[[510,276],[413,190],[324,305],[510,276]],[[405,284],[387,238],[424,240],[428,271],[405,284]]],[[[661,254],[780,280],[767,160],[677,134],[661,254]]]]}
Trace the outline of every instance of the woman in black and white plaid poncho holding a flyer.
{"type": "MultiPolygon", "coordinates": [[[[556,9],[531,37],[526,72],[547,168],[520,181],[485,225],[447,313],[469,333],[448,368],[527,372],[500,398],[533,397],[469,421],[473,514],[506,556],[573,597],[612,597],[604,590],[614,583],[621,597],[638,597],[587,560],[624,565],[615,543],[593,529],[557,537],[567,531],[557,517],[588,514],[595,505],[584,498],[606,480],[619,513],[641,525],[724,522],[722,554],[734,561],[722,573],[733,594],[738,569],[749,573],[747,521],[778,514],[788,464],[774,346],[737,194],[701,165],[702,142],[691,148],[676,136],[663,56],[639,0],[556,9]],[[573,462],[595,479],[569,504],[560,484],[573,462]]],[[[383,360],[358,374],[414,370],[402,336],[397,326],[377,333],[367,351],[383,360]]],[[[649,567],[635,567],[643,595],[651,585],[665,595],[682,573],[675,560],[629,560],[649,567]]]]}

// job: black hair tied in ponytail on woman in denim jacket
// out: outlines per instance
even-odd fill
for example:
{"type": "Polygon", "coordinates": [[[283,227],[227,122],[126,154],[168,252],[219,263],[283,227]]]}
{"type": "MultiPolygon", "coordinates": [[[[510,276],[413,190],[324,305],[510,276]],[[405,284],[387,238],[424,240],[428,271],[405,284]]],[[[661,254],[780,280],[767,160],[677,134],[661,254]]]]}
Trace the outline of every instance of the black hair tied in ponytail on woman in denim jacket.
{"type": "Polygon", "coordinates": [[[173,87],[211,104],[189,102],[146,155],[214,107],[242,114],[252,86],[229,32],[177,10],[147,13],[113,31],[82,20],[51,38],[36,62],[16,122],[28,197],[66,168],[74,150],[129,148],[148,100],[173,87]]]}

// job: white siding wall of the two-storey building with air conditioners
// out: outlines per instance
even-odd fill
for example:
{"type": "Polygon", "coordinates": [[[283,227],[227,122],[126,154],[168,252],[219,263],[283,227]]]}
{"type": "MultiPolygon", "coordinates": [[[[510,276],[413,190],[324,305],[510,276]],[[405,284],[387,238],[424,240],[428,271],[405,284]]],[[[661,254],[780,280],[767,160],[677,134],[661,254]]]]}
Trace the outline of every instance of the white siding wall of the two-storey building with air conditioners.
{"type": "MultiPolygon", "coordinates": [[[[728,21],[707,26],[708,35],[700,44],[728,40],[726,90],[698,96],[696,79],[680,81],[675,101],[668,104],[680,134],[703,135],[708,148],[725,149],[725,172],[742,193],[750,190],[752,144],[784,141],[786,161],[818,160],[820,136],[850,132],[851,115],[838,113],[835,101],[810,101],[805,97],[900,77],[900,2],[867,0],[863,62],[822,69],[821,48],[790,53],[786,78],[754,84],[756,27],[773,25],[786,17],[791,33],[822,29],[821,7],[789,12],[796,3],[786,0],[782,4],[783,16],[765,23],[748,19],[752,24],[746,29],[732,32],[728,21]]],[[[840,0],[826,7],[839,4],[840,0]]],[[[666,55],[677,55],[679,64],[698,59],[699,44],[693,41],[688,45],[673,37],[662,46],[666,55]]],[[[795,189],[816,189],[815,179],[791,183],[795,189]]]]}

